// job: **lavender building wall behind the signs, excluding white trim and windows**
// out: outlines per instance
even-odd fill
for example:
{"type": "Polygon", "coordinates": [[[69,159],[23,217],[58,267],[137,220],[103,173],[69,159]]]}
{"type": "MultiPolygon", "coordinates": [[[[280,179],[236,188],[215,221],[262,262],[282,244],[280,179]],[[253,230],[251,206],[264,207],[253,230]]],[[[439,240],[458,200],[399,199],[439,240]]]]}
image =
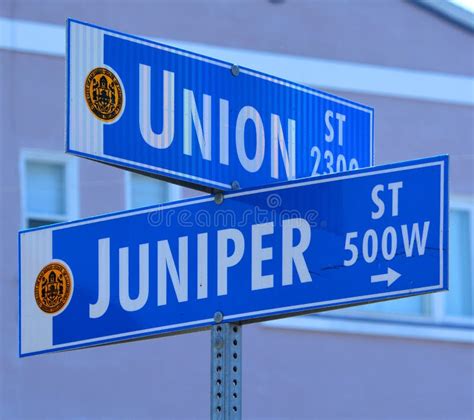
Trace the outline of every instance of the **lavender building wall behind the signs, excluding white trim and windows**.
{"type": "MultiPolygon", "coordinates": [[[[472,33],[401,1],[9,0],[0,15],[474,74],[472,33]]],[[[208,417],[209,332],[18,358],[19,156],[63,150],[64,59],[0,50],[0,72],[0,418],[208,417]]],[[[472,103],[335,93],[375,108],[376,163],[449,153],[451,192],[473,196],[472,103]]],[[[85,160],[79,171],[81,217],[124,207],[123,171],[85,160]]],[[[473,356],[457,341],[245,326],[243,418],[468,419],[473,356]]]]}

